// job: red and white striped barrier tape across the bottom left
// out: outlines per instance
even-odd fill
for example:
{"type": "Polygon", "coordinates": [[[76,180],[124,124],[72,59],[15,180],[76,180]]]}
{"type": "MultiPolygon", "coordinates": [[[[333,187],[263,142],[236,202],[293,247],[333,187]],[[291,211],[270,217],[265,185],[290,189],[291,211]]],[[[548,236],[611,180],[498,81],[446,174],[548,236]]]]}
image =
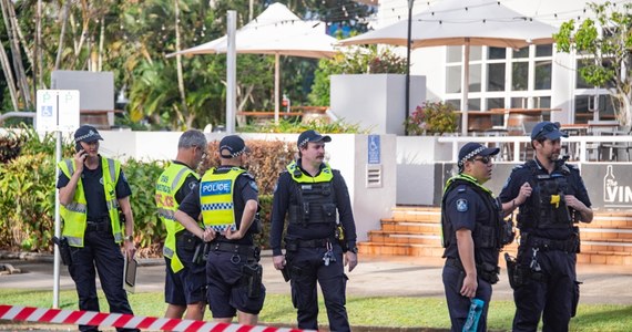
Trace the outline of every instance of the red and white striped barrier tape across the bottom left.
{"type": "Polygon", "coordinates": [[[212,332],[300,332],[296,329],[251,326],[192,320],[176,320],[154,317],[136,317],[124,313],[72,311],[32,307],[0,304],[0,320],[27,321],[58,324],[100,325],[126,329],[164,331],[212,331],[212,332]]]}

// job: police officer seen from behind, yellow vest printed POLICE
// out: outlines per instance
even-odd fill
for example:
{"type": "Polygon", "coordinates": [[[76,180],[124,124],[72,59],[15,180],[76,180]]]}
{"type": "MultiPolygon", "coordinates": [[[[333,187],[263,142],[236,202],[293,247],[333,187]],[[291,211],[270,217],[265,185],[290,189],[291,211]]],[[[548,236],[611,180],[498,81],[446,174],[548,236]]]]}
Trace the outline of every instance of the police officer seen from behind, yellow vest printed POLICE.
{"type": "Polygon", "coordinates": [[[213,319],[255,325],[265,299],[259,248],[254,235],[259,225],[258,188],[243,168],[248,149],[239,136],[220,142],[221,166],[206,170],[200,189],[192,191],[175,212],[177,221],[208,242],[206,259],[207,301],[213,319]],[[205,229],[195,219],[202,214],[205,229]]]}

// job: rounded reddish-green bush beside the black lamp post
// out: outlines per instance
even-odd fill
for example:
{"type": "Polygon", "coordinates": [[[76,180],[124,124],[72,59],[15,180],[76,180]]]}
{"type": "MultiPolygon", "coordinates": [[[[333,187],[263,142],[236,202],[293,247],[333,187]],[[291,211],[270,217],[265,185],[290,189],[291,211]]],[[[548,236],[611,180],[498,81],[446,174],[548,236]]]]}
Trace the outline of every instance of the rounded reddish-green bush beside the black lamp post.
{"type": "Polygon", "coordinates": [[[451,104],[426,102],[415,108],[404,125],[409,135],[453,133],[458,126],[458,117],[451,104]]]}

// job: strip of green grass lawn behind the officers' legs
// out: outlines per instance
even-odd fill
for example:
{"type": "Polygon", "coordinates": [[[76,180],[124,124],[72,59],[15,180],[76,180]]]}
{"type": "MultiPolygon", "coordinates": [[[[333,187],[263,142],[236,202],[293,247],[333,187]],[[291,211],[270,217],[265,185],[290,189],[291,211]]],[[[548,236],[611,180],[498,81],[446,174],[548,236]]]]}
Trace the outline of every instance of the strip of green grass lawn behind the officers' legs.
{"type": "MultiPolygon", "coordinates": [[[[108,303],[99,292],[101,310],[108,303]]],[[[50,308],[52,291],[0,290],[0,304],[50,308]]],[[[162,317],[166,304],[162,292],[130,294],[136,315],[162,317]]],[[[61,291],[61,309],[77,310],[77,293],[61,291]]],[[[444,299],[436,298],[358,298],[347,299],[349,320],[354,326],[439,328],[448,329],[450,320],[444,299]]],[[[488,326],[509,331],[513,319],[512,301],[493,301],[489,310],[488,326]]],[[[206,312],[205,318],[211,320],[206,312]]],[[[259,321],[271,324],[294,324],[296,313],[289,295],[268,294],[259,321]]],[[[325,307],[320,303],[319,322],[326,324],[325,307]]],[[[630,331],[632,307],[614,304],[580,304],[578,317],[571,320],[570,331],[630,331]]]]}

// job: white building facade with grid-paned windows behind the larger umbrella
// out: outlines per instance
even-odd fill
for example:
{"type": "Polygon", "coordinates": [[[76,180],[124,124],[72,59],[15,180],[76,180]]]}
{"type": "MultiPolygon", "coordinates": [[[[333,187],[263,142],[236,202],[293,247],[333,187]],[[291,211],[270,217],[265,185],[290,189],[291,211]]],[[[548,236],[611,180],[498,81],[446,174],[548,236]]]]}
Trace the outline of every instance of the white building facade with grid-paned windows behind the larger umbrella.
{"type": "MultiPolygon", "coordinates": [[[[412,14],[428,10],[438,1],[442,0],[414,1],[412,14]]],[[[524,18],[558,28],[571,19],[581,21],[591,13],[583,0],[490,2],[500,2],[524,18]]],[[[373,28],[406,20],[408,3],[408,0],[379,0],[373,28]]],[[[455,10],[463,10],[465,13],[467,6],[468,1],[463,0],[462,8],[455,10]]],[[[450,23],[457,22],[444,22],[450,23]]],[[[404,48],[398,51],[406,55],[404,48]]],[[[427,77],[428,101],[445,101],[460,107],[465,81],[463,46],[416,49],[411,52],[410,62],[411,75],[427,77]]],[[[551,112],[550,120],[562,124],[613,120],[613,106],[606,90],[587,84],[579,76],[579,65],[575,54],[558,53],[554,44],[530,45],[519,50],[471,46],[468,108],[470,112],[491,108],[560,108],[559,112],[551,112]],[[594,111],[599,112],[595,114],[594,111]]],[[[495,123],[497,124],[500,123],[495,123]]]]}

